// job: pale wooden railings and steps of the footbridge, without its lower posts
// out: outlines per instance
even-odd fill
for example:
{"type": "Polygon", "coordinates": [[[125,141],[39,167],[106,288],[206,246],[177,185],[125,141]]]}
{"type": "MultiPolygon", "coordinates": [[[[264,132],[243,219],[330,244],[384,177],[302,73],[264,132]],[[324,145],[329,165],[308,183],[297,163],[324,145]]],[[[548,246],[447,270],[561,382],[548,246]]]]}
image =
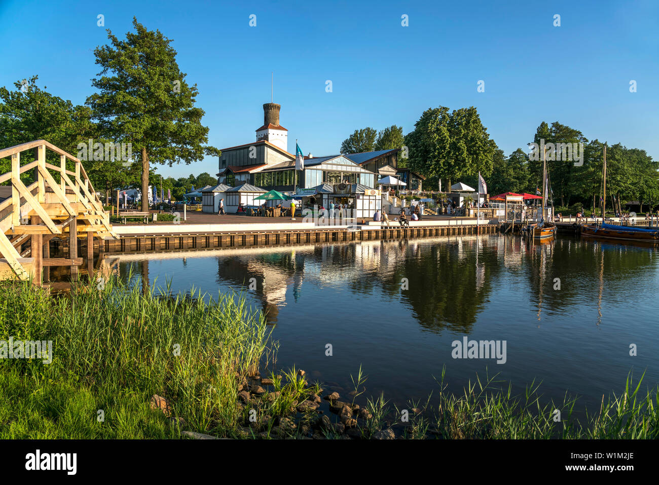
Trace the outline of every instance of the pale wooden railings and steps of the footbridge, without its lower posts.
{"type": "Polygon", "coordinates": [[[0,254],[18,277],[30,275],[16,249],[18,238],[12,241],[8,235],[61,235],[68,229],[72,241],[78,231],[92,237],[117,237],[79,159],[45,140],[0,150],[0,159],[5,157],[11,157],[11,171],[0,175],[0,185],[10,182],[11,196],[0,202],[0,254]],[[34,161],[22,164],[21,154],[28,150],[34,152],[34,161]],[[59,156],[59,166],[48,163],[47,150],[59,156]],[[25,185],[20,176],[33,169],[34,182],[25,185]]]}

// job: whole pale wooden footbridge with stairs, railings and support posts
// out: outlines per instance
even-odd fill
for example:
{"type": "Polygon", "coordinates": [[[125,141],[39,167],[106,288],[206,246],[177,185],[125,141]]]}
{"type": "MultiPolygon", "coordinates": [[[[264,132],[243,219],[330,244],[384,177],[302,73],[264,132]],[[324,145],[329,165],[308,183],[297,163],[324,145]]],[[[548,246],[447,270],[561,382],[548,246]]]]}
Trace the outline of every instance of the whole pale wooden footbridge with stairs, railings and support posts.
{"type": "Polygon", "coordinates": [[[45,140],[0,150],[5,157],[11,157],[11,171],[0,175],[0,279],[32,279],[41,286],[42,270],[51,266],[69,266],[76,278],[82,264],[78,237],[87,237],[92,259],[94,238],[118,238],[82,163],[45,140]],[[22,164],[28,150],[34,161],[22,164]],[[58,157],[59,166],[48,162],[58,157]],[[34,182],[25,185],[29,171],[34,182]],[[68,239],[68,258],[50,258],[53,237],[68,239]]]}

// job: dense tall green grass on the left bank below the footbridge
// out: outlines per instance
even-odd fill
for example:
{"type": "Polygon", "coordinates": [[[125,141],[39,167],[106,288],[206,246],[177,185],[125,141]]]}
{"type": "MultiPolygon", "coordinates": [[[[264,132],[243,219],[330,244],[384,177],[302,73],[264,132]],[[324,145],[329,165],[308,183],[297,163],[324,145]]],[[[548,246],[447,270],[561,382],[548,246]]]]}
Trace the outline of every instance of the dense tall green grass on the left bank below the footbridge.
{"type": "Polygon", "coordinates": [[[13,424],[0,426],[0,438],[169,436],[162,413],[150,410],[153,394],[188,428],[229,434],[237,383],[258,369],[268,341],[265,320],[240,296],[162,297],[116,277],[70,297],[29,283],[3,283],[0,293],[0,339],[53,341],[51,364],[0,359],[0,422],[13,424]],[[67,432],[64,410],[76,414],[67,432]]]}

